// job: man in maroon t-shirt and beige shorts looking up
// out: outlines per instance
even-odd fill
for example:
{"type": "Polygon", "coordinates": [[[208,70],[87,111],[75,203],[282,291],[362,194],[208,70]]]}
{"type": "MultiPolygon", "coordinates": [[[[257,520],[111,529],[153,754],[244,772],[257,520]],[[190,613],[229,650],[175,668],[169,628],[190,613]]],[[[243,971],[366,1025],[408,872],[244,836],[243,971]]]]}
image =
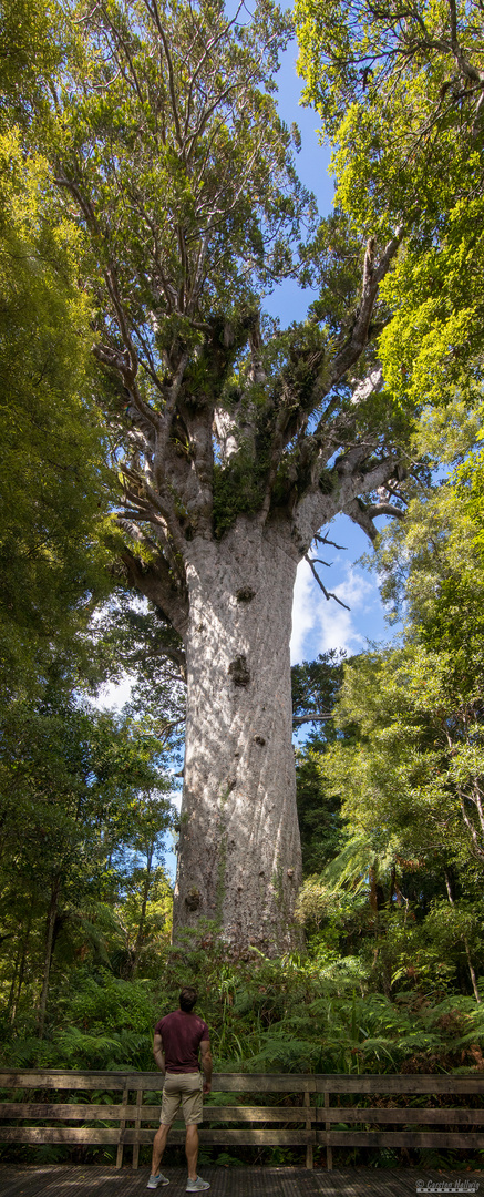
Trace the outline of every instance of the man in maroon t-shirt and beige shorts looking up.
{"type": "Polygon", "coordinates": [[[197,1175],[198,1123],[203,1118],[203,1093],[212,1088],[210,1034],[203,1019],[192,1013],[197,995],[188,985],[179,995],[179,1009],[167,1014],[154,1028],[153,1055],[158,1068],[165,1074],[163,1087],[160,1129],[153,1142],[152,1174],[148,1189],[170,1184],[159,1172],[169,1130],[182,1105],[185,1119],[185,1152],[188,1162],[186,1192],[196,1193],[209,1189],[207,1180],[197,1175]],[[202,1056],[203,1077],[198,1064],[202,1056]]]}

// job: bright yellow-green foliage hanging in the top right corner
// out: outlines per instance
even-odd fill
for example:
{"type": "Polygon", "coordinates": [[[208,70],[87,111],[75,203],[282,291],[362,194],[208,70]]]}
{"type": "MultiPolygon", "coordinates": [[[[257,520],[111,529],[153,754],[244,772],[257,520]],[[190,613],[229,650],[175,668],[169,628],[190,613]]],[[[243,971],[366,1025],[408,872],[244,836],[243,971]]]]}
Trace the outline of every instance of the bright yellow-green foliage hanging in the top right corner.
{"type": "Polygon", "coordinates": [[[337,202],[354,235],[405,248],[385,279],[379,352],[400,403],[478,396],[483,260],[482,12],[419,0],[298,0],[305,97],[335,146],[337,202]]]}

